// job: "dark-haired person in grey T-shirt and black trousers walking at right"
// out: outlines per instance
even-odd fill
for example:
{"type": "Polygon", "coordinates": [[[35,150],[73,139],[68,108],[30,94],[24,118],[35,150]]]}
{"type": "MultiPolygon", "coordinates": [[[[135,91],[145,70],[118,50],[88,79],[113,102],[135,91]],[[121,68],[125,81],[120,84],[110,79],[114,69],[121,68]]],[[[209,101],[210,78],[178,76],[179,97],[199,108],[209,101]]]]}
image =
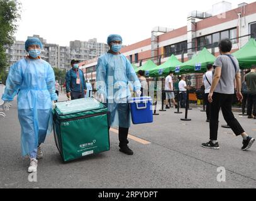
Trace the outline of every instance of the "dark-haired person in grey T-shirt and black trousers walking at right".
{"type": "Polygon", "coordinates": [[[218,119],[220,109],[228,126],[236,134],[242,136],[242,150],[250,149],[255,139],[245,133],[240,123],[235,119],[232,112],[233,94],[235,94],[234,80],[237,84],[237,99],[242,101],[240,68],[238,60],[230,54],[232,43],[230,40],[221,40],[219,43],[220,56],[214,62],[214,77],[208,100],[211,103],[211,114],[209,122],[210,141],[203,143],[203,148],[220,149],[218,139],[218,119]]]}

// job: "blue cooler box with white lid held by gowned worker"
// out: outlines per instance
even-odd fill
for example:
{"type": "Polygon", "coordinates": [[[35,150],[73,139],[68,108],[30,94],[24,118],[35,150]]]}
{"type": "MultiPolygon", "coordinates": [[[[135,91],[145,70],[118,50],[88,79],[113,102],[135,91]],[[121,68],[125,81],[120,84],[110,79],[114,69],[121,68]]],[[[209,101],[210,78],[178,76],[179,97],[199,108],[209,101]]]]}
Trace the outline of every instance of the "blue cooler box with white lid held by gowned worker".
{"type": "Polygon", "coordinates": [[[129,103],[133,124],[147,124],[153,122],[151,97],[130,98],[129,103]]]}

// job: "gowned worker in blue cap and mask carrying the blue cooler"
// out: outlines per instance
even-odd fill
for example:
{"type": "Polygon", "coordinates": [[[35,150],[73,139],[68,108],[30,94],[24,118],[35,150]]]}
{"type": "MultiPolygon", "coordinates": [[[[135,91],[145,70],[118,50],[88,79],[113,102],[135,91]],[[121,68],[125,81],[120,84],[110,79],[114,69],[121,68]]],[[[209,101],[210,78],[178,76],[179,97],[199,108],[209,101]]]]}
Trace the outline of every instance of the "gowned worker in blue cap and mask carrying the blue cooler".
{"type": "Polygon", "coordinates": [[[120,53],[122,42],[120,35],[108,36],[109,51],[101,55],[97,62],[96,88],[97,98],[108,106],[109,126],[119,127],[120,151],[133,155],[127,139],[130,128],[129,85],[133,86],[137,97],[142,92],[135,70],[125,55],[120,53]]]}

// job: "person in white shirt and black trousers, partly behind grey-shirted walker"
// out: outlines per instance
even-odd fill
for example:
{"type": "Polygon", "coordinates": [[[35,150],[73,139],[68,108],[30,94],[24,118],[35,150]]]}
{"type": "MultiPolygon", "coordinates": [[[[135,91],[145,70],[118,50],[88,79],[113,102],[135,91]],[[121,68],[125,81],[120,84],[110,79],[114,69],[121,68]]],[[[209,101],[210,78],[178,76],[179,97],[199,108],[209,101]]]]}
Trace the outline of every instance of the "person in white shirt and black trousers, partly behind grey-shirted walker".
{"type": "Polygon", "coordinates": [[[204,103],[206,104],[206,117],[207,117],[206,122],[209,122],[210,121],[210,112],[211,112],[210,106],[211,106],[211,104],[208,101],[208,95],[209,95],[209,92],[211,89],[211,82],[213,82],[213,65],[211,65],[211,64],[207,65],[207,72],[204,73],[204,75],[203,75],[203,82],[204,82],[204,87],[205,87],[204,103]]]}

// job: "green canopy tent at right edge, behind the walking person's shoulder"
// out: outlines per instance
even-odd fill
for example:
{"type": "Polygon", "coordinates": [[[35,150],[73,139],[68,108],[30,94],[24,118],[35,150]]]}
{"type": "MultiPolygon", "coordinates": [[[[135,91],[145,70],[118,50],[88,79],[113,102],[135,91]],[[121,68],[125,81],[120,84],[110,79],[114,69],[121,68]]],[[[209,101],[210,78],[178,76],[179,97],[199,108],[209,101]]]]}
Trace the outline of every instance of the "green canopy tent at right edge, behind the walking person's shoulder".
{"type": "Polygon", "coordinates": [[[252,38],[240,50],[233,53],[241,69],[251,68],[256,65],[256,41],[252,38]]]}

